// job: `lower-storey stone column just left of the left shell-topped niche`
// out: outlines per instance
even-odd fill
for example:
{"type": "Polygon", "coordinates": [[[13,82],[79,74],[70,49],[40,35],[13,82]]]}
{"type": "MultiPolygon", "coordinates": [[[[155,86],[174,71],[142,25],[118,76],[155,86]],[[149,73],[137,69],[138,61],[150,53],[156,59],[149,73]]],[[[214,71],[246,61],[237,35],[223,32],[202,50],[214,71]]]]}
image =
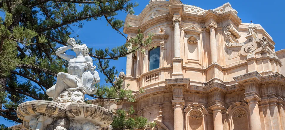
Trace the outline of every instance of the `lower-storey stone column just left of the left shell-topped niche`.
{"type": "Polygon", "coordinates": [[[172,100],[172,105],[174,109],[174,129],[173,130],[183,130],[183,106],[184,100],[172,100]]]}

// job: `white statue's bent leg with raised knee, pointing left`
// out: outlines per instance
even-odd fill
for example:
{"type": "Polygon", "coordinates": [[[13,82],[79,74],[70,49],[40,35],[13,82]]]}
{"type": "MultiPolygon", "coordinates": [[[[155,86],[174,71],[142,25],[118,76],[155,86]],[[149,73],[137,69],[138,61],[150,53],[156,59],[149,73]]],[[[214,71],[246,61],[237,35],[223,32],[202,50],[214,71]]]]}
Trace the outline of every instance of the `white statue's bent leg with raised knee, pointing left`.
{"type": "Polygon", "coordinates": [[[76,88],[77,81],[74,76],[68,73],[59,72],[53,97],[56,98],[65,88],[76,88]]]}

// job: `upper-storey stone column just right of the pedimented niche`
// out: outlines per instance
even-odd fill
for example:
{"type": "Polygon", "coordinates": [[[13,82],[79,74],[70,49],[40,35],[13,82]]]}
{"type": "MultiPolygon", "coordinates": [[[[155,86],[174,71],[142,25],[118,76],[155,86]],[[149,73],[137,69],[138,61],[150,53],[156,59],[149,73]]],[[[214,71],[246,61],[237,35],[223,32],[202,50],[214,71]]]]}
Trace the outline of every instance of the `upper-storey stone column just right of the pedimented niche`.
{"type": "Polygon", "coordinates": [[[210,30],[210,51],[211,51],[211,60],[212,63],[218,63],[218,54],[217,54],[217,43],[216,43],[216,34],[215,28],[218,26],[215,23],[210,23],[207,25],[207,29],[210,30]]]}

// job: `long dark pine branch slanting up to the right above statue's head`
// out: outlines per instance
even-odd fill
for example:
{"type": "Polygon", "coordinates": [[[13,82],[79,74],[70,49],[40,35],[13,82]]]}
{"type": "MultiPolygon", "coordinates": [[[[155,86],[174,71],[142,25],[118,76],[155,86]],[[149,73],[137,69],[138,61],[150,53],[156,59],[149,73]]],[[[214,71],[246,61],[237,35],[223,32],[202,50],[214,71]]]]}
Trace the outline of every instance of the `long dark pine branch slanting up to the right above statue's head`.
{"type": "Polygon", "coordinates": [[[81,20],[86,20],[86,19],[92,18],[92,17],[99,17],[99,16],[102,16],[102,15],[108,15],[110,13],[113,13],[113,12],[116,12],[116,11],[119,11],[119,10],[121,10],[121,9],[114,9],[114,10],[110,10],[110,12],[103,12],[103,13],[99,13],[99,14],[91,15],[91,16],[87,16],[87,17],[79,17],[77,19],[69,20],[69,21],[63,22],[63,23],[58,24],[58,25],[54,25],[54,26],[50,26],[50,27],[47,27],[47,28],[39,29],[39,30],[37,30],[37,32],[43,32],[43,31],[51,30],[51,29],[58,28],[58,27],[61,27],[63,25],[66,25],[66,24],[74,23],[74,22],[81,21],[81,20]]]}

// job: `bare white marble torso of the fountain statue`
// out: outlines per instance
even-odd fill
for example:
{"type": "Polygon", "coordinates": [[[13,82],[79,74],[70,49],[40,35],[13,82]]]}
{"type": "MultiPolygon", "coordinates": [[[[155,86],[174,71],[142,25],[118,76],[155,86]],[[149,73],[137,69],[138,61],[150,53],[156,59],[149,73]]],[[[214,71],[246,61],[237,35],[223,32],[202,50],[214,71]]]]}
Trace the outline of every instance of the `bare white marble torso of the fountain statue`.
{"type": "Polygon", "coordinates": [[[82,74],[85,72],[85,63],[87,63],[88,61],[89,59],[87,58],[87,56],[75,57],[73,59],[70,59],[67,67],[68,73],[73,76],[76,76],[77,78],[81,78],[82,74]]]}

